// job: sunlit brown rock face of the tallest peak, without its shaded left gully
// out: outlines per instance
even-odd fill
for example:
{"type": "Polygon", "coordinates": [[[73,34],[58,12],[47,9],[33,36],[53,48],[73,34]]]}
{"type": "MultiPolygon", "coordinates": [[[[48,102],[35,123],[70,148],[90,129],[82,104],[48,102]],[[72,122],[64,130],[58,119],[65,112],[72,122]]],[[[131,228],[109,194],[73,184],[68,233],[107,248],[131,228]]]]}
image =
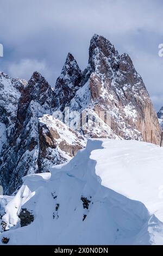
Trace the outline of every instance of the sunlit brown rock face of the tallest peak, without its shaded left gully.
{"type": "MultiPolygon", "coordinates": [[[[111,112],[112,130],[125,139],[142,137],[143,140],[145,131],[150,135],[153,130],[153,143],[159,143],[156,113],[128,54],[120,56],[108,40],[95,35],[91,40],[89,63],[94,73],[90,83],[92,98],[100,98],[99,105],[107,106],[111,112]]],[[[150,139],[147,137],[148,142],[150,139]]]]}

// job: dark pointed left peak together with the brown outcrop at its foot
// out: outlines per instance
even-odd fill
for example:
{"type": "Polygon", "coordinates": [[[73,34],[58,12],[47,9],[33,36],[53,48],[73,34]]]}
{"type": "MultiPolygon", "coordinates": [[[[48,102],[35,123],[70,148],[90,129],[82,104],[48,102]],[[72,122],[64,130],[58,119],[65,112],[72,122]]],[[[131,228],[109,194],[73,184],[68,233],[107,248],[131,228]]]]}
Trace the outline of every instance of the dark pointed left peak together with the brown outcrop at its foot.
{"type": "Polygon", "coordinates": [[[56,120],[55,126],[51,117],[47,126],[48,117],[43,118],[43,115],[52,113],[53,102],[52,88],[45,78],[34,72],[17,100],[15,126],[1,152],[0,182],[4,194],[13,193],[22,184],[24,175],[48,172],[49,166],[70,160],[77,149],[85,146],[84,138],[73,131],[62,139],[60,133],[67,128],[59,120],[56,120]],[[49,123],[53,127],[49,128],[49,123]],[[72,144],[67,143],[71,134],[72,144]]]}

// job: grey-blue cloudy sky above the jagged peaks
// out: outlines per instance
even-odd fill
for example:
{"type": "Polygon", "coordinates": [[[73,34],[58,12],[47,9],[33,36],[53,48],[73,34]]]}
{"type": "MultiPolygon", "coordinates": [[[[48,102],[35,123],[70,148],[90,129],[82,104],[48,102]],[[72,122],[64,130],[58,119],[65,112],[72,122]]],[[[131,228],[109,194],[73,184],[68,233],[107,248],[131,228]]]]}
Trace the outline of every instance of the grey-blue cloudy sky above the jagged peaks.
{"type": "Polygon", "coordinates": [[[163,105],[162,0],[0,0],[0,70],[28,80],[40,71],[54,87],[68,52],[81,69],[93,34],[127,52],[155,108],[163,105]]]}

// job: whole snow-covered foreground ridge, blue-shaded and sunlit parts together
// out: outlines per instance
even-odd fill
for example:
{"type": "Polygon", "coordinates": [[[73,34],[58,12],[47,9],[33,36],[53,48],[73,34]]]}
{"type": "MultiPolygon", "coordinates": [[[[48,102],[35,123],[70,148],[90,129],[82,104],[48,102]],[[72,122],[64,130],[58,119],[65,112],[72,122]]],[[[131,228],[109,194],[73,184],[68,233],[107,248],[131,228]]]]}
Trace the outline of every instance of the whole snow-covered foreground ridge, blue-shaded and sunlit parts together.
{"type": "Polygon", "coordinates": [[[8,245],[163,245],[163,148],[89,140],[67,164],[0,198],[8,245]],[[28,209],[34,221],[20,227],[28,209]]]}

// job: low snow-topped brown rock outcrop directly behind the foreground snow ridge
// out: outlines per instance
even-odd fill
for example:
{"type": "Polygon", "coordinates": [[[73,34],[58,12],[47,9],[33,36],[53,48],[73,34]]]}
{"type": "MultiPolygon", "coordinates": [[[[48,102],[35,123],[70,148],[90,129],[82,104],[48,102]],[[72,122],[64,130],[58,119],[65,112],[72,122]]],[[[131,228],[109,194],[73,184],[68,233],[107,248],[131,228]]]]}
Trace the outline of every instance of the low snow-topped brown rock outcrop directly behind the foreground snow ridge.
{"type": "Polygon", "coordinates": [[[43,115],[39,120],[39,143],[39,169],[48,172],[52,164],[67,162],[76,155],[86,140],[52,115],[43,115]]]}

